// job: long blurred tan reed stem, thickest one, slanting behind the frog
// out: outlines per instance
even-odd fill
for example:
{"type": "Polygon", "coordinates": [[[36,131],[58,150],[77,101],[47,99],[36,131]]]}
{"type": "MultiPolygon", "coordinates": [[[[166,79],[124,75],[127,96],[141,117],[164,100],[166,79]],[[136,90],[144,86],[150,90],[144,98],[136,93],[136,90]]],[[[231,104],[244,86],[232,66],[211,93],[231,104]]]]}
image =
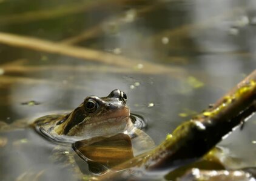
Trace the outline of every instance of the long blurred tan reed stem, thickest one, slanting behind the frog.
{"type": "Polygon", "coordinates": [[[22,48],[29,48],[35,51],[44,51],[55,54],[62,54],[66,56],[80,58],[86,61],[100,62],[108,65],[121,66],[134,71],[149,71],[159,72],[161,74],[166,72],[180,73],[181,69],[173,69],[168,66],[149,63],[144,60],[133,60],[122,56],[115,56],[102,51],[93,49],[81,48],[72,45],[62,45],[61,43],[50,42],[47,40],[36,39],[32,37],[18,36],[9,33],[0,33],[0,43],[5,43],[10,46],[18,46],[22,48]],[[143,69],[136,69],[138,63],[143,64],[143,69]]]}

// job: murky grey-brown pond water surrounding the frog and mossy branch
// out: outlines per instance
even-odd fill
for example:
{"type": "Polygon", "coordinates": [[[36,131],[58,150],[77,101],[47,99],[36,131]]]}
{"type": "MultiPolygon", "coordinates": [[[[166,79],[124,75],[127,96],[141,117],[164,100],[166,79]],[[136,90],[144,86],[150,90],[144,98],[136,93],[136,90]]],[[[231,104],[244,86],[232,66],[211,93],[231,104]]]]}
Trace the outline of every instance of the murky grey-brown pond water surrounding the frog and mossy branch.
{"type": "MultiPolygon", "coordinates": [[[[160,144],[254,71],[255,10],[249,0],[0,1],[0,121],[31,122],[120,89],[160,144]]],[[[244,167],[256,166],[255,129],[252,116],[219,144],[244,167]]],[[[73,151],[56,149],[29,128],[1,133],[0,180],[79,180],[76,162],[52,159],[73,151]]]]}

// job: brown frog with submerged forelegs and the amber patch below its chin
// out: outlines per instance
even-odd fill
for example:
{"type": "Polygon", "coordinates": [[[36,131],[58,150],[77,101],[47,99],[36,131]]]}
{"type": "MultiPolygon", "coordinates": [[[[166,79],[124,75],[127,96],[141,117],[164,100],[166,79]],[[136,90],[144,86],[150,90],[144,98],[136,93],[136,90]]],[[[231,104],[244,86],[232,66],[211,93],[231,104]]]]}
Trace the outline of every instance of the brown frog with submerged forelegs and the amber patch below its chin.
{"type": "Polygon", "coordinates": [[[101,166],[110,168],[120,163],[120,160],[130,159],[155,147],[152,138],[142,130],[145,124],[140,124],[141,119],[134,119],[126,103],[126,93],[115,89],[106,97],[86,97],[72,112],[42,116],[30,126],[52,142],[72,144],[73,150],[85,161],[93,157],[94,164],[87,162],[91,171],[95,170],[91,165],[98,163],[98,160],[106,159],[107,162],[101,162],[97,170],[101,166]],[[98,144],[95,146],[94,143],[98,144]],[[117,162],[114,158],[108,159],[113,153],[108,152],[110,147],[115,150],[115,154],[122,155],[117,162]],[[93,151],[88,151],[90,148],[93,151]]]}

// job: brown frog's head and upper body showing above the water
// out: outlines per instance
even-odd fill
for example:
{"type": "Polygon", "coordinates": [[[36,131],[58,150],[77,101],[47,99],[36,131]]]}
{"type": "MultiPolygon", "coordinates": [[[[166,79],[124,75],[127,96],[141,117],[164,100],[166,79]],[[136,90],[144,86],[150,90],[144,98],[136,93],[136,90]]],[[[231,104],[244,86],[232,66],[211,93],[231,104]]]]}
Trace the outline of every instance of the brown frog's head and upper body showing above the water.
{"type": "Polygon", "coordinates": [[[43,116],[33,122],[32,126],[42,135],[58,142],[87,139],[92,143],[118,133],[126,133],[131,138],[137,137],[147,147],[153,145],[152,139],[133,125],[126,101],[126,94],[118,89],[107,97],[89,96],[71,113],[43,116]]]}

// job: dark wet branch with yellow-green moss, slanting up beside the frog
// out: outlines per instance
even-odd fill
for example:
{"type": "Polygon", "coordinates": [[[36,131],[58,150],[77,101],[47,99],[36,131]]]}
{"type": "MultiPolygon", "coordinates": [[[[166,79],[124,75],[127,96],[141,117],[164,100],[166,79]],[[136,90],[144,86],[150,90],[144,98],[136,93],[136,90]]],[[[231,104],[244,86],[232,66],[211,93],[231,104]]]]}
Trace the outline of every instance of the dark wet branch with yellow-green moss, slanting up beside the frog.
{"type": "MultiPolygon", "coordinates": [[[[130,177],[136,171],[170,171],[195,161],[211,150],[223,136],[243,124],[256,111],[256,71],[224,95],[213,107],[181,124],[172,136],[152,151],[141,154],[118,167],[129,170],[113,173],[111,170],[99,180],[130,177]]],[[[145,177],[145,176],[143,176],[145,177]]]]}

